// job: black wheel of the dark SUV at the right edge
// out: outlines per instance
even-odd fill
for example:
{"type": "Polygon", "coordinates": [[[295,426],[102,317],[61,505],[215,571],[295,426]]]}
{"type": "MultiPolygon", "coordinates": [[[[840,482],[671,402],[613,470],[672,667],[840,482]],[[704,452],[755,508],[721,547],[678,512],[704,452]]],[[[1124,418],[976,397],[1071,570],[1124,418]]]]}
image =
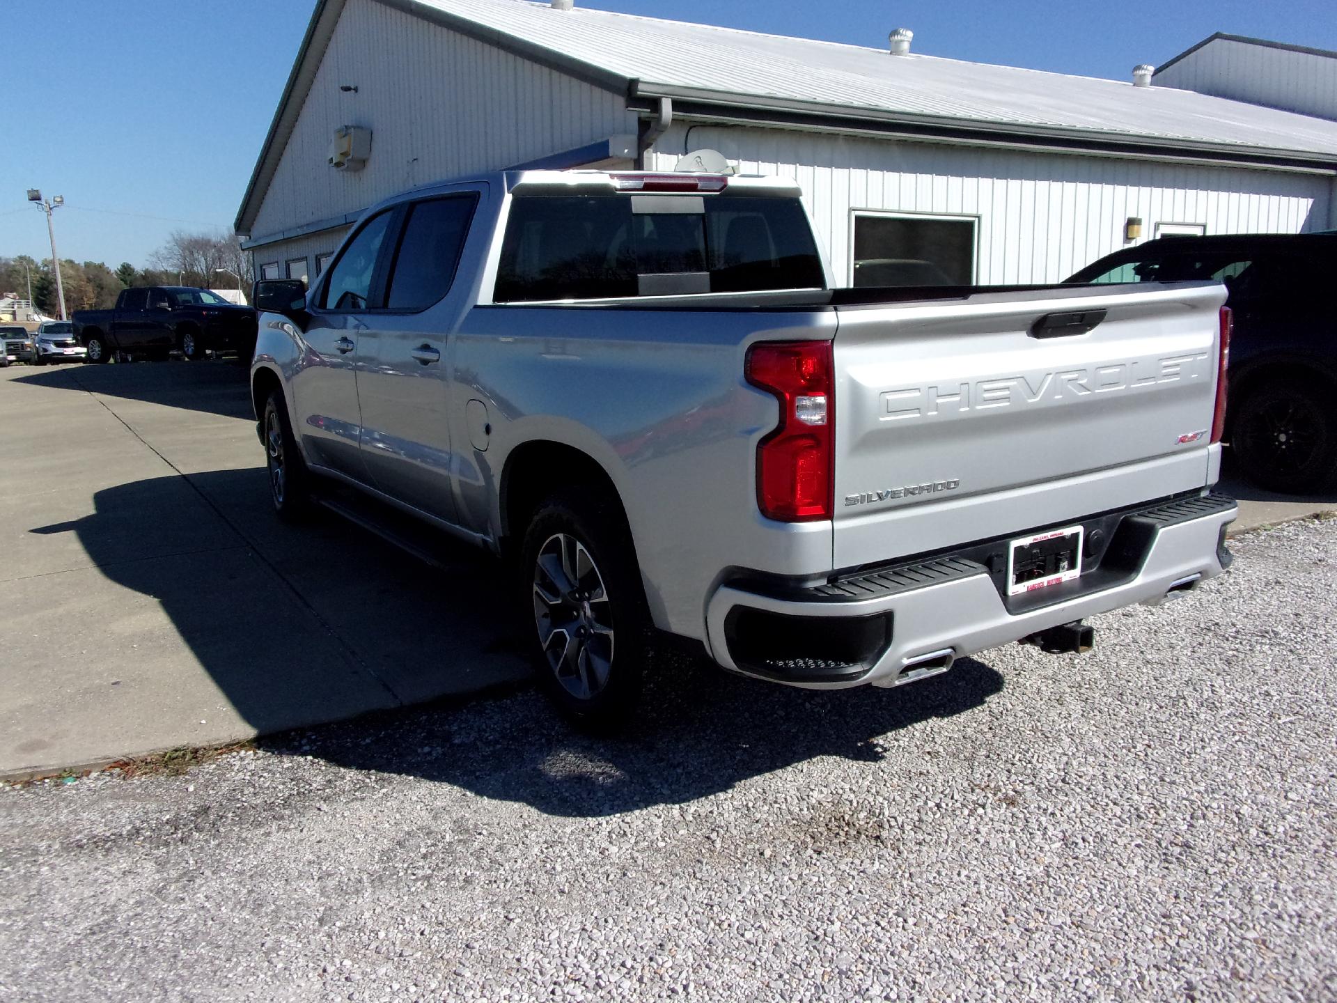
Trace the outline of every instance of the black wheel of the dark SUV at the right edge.
{"type": "Polygon", "coordinates": [[[1281,493],[1337,481],[1337,411],[1317,386],[1266,385],[1239,401],[1230,448],[1245,479],[1281,493]]]}

